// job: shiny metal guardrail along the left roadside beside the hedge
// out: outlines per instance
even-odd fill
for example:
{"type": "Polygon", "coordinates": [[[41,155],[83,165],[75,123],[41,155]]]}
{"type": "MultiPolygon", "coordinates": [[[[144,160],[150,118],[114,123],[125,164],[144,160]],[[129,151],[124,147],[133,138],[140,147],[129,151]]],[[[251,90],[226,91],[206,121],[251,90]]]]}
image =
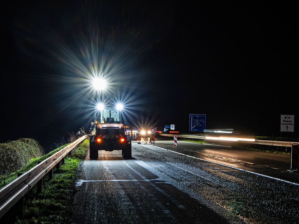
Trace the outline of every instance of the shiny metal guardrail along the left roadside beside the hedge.
{"type": "Polygon", "coordinates": [[[59,165],[60,161],[72,151],[80,142],[86,138],[86,135],[80,137],[63,149],[37,164],[18,178],[0,189],[0,218],[10,210],[22,197],[36,185],[50,171],[53,174],[53,168],[59,165]]]}

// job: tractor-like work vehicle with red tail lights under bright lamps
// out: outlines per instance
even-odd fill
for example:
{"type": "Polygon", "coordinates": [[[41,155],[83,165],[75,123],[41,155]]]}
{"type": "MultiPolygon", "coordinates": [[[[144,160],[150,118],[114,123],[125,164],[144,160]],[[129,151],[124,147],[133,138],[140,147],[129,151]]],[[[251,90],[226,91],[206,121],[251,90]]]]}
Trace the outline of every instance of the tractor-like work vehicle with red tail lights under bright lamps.
{"type": "Polygon", "coordinates": [[[99,116],[95,116],[93,135],[89,142],[89,157],[97,159],[99,150],[121,150],[124,159],[131,159],[131,137],[126,134],[123,123],[117,119],[119,114],[111,107],[111,104],[108,106],[110,107],[100,110],[99,116]],[[106,114],[109,114],[109,117],[105,118],[106,114]]]}

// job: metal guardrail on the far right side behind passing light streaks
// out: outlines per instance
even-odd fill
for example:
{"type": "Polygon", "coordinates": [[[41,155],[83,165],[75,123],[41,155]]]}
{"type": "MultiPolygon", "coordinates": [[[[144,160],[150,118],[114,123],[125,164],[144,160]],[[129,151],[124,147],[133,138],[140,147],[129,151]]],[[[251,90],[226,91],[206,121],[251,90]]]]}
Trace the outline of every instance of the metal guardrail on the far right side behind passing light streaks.
{"type": "MultiPolygon", "coordinates": [[[[168,137],[173,137],[174,135],[172,134],[160,134],[157,133],[158,135],[161,136],[168,136],[168,137]]],[[[206,140],[209,142],[214,142],[214,141],[223,141],[223,140],[216,140],[216,139],[206,139],[205,136],[197,136],[197,135],[176,135],[181,138],[189,138],[189,139],[202,139],[206,140]]],[[[225,142],[234,142],[234,141],[225,141],[225,142]]],[[[238,143],[246,143],[246,144],[257,144],[257,145],[273,145],[273,146],[284,146],[284,147],[292,147],[292,144],[298,144],[298,142],[281,142],[281,141],[270,141],[270,140],[254,140],[252,141],[237,141],[238,143]]]]}

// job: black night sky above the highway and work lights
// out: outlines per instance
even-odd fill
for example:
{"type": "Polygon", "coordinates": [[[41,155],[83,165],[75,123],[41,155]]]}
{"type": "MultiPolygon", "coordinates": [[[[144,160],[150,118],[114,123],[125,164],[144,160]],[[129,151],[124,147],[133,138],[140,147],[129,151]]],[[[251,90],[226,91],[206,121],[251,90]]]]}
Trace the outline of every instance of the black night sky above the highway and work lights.
{"type": "Polygon", "coordinates": [[[206,128],[279,135],[298,111],[297,1],[10,1],[0,17],[0,142],[88,129],[97,96],[69,63],[89,63],[84,40],[123,53],[109,97],[130,102],[129,124],[187,132],[205,113],[206,128]]]}

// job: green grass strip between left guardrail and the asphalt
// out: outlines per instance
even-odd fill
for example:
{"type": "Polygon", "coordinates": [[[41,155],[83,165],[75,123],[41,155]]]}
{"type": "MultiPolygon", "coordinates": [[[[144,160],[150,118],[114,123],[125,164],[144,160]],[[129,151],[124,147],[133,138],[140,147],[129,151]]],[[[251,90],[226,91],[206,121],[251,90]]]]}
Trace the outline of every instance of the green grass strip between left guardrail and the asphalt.
{"type": "Polygon", "coordinates": [[[88,148],[89,140],[85,140],[70,157],[65,158],[65,165],[61,165],[60,169],[54,172],[53,179],[47,180],[44,177],[41,194],[36,194],[36,187],[28,192],[25,196],[24,216],[17,217],[15,223],[69,223],[75,181],[78,177],[77,167],[85,158],[88,148]]]}

